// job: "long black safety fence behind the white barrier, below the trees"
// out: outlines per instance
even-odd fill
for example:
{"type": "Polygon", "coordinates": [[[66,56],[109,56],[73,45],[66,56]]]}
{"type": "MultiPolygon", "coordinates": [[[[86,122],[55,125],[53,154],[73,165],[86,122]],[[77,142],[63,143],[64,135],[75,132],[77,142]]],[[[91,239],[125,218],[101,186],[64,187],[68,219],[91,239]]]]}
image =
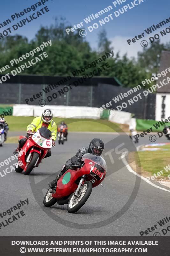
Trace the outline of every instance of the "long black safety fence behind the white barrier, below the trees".
{"type": "Polygon", "coordinates": [[[43,99],[48,105],[112,108],[155,119],[155,94],[144,93],[139,85],[124,88],[116,78],[11,76],[0,87],[0,104],[39,105],[43,99]]]}

